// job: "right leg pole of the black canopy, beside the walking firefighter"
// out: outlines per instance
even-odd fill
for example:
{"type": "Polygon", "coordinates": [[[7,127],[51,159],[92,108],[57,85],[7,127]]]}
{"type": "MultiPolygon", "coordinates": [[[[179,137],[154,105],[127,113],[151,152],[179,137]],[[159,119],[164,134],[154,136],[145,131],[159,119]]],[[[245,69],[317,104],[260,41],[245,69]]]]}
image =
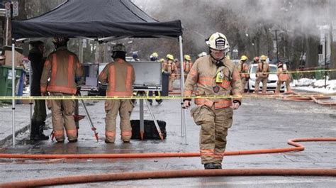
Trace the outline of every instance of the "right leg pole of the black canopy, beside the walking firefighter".
{"type": "MultiPolygon", "coordinates": [[[[181,96],[184,96],[184,69],[183,69],[183,44],[182,36],[179,35],[179,55],[181,64],[181,96]]],[[[182,108],[183,99],[181,99],[181,136],[184,136],[184,144],[186,143],[186,109],[182,108]]]]}

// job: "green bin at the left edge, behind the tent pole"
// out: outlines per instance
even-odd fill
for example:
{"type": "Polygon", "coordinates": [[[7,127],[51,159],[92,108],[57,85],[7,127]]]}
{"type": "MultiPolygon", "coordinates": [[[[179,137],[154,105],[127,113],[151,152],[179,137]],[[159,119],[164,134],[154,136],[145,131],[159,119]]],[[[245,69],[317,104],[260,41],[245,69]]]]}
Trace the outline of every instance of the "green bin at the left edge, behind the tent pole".
{"type": "MultiPolygon", "coordinates": [[[[23,69],[21,67],[15,67],[15,86],[20,80],[23,69]]],[[[0,96],[11,96],[12,89],[12,70],[11,66],[0,66],[0,96]]],[[[17,91],[16,91],[17,92],[17,91]]],[[[11,102],[6,100],[4,102],[11,102]]]]}

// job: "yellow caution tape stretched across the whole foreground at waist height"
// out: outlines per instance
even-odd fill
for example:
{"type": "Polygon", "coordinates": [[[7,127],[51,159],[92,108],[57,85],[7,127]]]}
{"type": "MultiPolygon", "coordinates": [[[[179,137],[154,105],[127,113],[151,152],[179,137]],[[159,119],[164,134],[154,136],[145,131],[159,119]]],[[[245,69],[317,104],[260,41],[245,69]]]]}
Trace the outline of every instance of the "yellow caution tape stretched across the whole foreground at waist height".
{"type": "Polygon", "coordinates": [[[244,95],[209,95],[209,96],[0,96],[0,100],[119,100],[119,99],[242,99],[274,98],[279,96],[336,96],[333,94],[244,94],[244,95]]]}

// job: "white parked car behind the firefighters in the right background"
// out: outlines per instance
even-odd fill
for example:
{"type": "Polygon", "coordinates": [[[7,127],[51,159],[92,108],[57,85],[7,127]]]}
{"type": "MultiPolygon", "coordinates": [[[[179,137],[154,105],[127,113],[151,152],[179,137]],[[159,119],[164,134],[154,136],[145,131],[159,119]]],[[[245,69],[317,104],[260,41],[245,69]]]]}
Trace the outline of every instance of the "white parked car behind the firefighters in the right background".
{"type": "MultiPolygon", "coordinates": [[[[250,90],[250,92],[254,91],[255,79],[256,79],[256,72],[257,72],[257,64],[252,64],[249,67],[250,79],[249,82],[245,85],[245,89],[250,90]]],[[[276,89],[276,82],[278,81],[278,76],[276,76],[276,65],[269,64],[269,80],[267,82],[267,91],[275,91],[276,89]]],[[[259,91],[262,91],[262,82],[259,84],[259,91]]],[[[285,91],[285,84],[281,84],[280,92],[285,91]]]]}

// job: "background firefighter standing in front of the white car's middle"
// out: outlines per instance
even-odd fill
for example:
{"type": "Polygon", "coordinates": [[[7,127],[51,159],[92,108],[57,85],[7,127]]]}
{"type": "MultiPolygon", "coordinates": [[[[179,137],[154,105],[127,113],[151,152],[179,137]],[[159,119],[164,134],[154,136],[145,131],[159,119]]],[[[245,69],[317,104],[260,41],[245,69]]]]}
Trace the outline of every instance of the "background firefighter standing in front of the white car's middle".
{"type": "Polygon", "coordinates": [[[257,67],[257,78],[254,85],[254,93],[259,93],[259,83],[262,82],[262,93],[265,94],[267,91],[267,81],[269,77],[269,64],[266,62],[267,56],[260,56],[257,67]]]}

